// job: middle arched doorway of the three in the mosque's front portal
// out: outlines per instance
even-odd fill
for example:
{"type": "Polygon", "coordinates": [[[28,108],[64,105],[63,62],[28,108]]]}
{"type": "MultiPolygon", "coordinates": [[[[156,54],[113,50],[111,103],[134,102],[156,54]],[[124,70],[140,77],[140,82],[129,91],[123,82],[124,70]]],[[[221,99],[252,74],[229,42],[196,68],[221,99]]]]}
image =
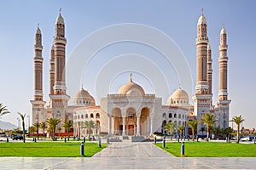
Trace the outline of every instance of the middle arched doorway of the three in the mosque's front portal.
{"type": "Polygon", "coordinates": [[[135,135],[137,129],[137,114],[134,108],[129,108],[125,116],[126,134],[135,135]]]}

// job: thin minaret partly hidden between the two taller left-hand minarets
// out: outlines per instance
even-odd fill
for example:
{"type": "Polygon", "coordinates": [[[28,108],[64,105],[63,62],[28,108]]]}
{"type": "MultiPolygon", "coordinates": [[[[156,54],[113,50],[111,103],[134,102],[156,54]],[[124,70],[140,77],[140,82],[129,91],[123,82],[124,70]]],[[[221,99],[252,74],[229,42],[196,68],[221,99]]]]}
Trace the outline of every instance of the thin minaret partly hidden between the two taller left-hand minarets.
{"type": "Polygon", "coordinates": [[[55,46],[51,46],[49,59],[49,95],[54,94],[55,86],[55,46]]]}

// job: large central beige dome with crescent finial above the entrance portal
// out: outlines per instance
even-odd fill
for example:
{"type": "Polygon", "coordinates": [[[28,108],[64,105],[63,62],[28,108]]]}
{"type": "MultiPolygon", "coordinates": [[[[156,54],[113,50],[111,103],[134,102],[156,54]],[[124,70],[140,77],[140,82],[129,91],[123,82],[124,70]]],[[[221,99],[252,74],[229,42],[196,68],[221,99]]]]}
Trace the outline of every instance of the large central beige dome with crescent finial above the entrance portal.
{"type": "Polygon", "coordinates": [[[130,82],[119,88],[118,94],[132,94],[132,95],[145,95],[143,88],[135,82],[132,82],[132,74],[130,75],[130,82]]]}

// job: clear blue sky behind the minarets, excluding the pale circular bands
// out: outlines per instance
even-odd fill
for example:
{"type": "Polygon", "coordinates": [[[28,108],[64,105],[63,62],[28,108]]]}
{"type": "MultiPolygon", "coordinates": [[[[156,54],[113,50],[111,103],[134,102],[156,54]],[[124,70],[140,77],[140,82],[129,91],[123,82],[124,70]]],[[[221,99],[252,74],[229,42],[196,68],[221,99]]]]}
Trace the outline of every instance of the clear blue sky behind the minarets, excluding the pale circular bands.
{"type": "MultiPolygon", "coordinates": [[[[228,33],[229,45],[229,97],[230,117],[242,115],[245,127],[256,127],[254,99],[256,94],[256,3],[247,1],[1,1],[0,5],[0,102],[7,105],[11,114],[3,116],[2,121],[17,124],[17,111],[31,114],[30,100],[33,98],[33,43],[38,22],[43,33],[44,46],[44,100],[49,101],[49,50],[54,36],[55,18],[61,14],[66,22],[67,60],[81,40],[91,32],[122,23],[137,23],[152,26],[164,33],[177,44],[187,59],[192,74],[192,89],[195,92],[195,37],[196,24],[201,8],[207,18],[208,37],[212,46],[213,59],[213,101],[218,99],[218,44],[219,32],[224,26],[228,33]]],[[[113,59],[121,54],[137,53],[149,56],[168,79],[169,91],[166,93],[154,89],[154,84],[131,71],[134,79],[147,93],[163,97],[163,104],[178,87],[173,68],[162,62],[161,55],[154,49],[141,44],[123,42],[104,48],[95,59],[113,59]],[[169,70],[168,70],[169,69],[169,70]],[[159,92],[159,93],[158,93],[159,92]]],[[[100,101],[106,94],[97,94],[96,87],[106,88],[104,84],[90,82],[95,79],[101,68],[101,62],[90,63],[81,76],[79,83],[84,84],[90,94],[100,101]],[[86,77],[87,75],[87,77],[86,77]],[[88,77],[88,75],[90,77],[88,77]]],[[[122,64],[119,65],[122,67],[122,64]]],[[[118,73],[117,73],[118,74],[118,73]]],[[[109,93],[118,90],[121,84],[129,80],[128,71],[116,76],[109,93]]],[[[77,87],[79,88],[79,87],[77,87]]],[[[67,93],[73,96],[77,89],[67,86],[67,93]]],[[[192,97],[192,94],[189,94],[192,97]]],[[[71,103],[73,99],[70,100],[71,103]]],[[[192,102],[192,99],[190,100],[192,102]]]]}

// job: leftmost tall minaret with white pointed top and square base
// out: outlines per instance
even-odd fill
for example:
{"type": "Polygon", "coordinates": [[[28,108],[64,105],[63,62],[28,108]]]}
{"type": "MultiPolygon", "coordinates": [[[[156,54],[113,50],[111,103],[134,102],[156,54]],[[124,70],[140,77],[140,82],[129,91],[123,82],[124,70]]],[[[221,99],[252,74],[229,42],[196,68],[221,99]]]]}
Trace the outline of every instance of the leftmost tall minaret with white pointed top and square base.
{"type": "Polygon", "coordinates": [[[34,44],[34,99],[32,103],[32,123],[44,121],[43,100],[43,57],[42,57],[42,34],[38,25],[34,44]]]}

